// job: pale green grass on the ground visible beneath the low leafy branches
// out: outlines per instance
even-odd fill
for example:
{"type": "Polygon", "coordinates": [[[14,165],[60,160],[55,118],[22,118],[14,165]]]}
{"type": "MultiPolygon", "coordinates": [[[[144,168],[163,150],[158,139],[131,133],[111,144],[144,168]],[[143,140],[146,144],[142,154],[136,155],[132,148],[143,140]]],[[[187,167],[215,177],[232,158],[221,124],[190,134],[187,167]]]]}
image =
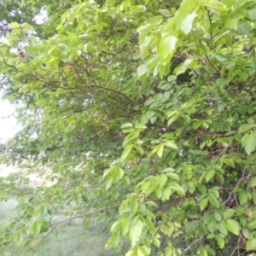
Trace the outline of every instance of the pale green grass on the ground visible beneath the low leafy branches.
{"type": "MultiPolygon", "coordinates": [[[[0,223],[12,214],[18,204],[14,199],[0,202],[0,223]]],[[[42,243],[26,253],[12,253],[12,256],[121,256],[125,255],[126,245],[121,252],[104,249],[108,233],[101,224],[91,224],[84,228],[79,220],[50,234],[42,243]]]]}

